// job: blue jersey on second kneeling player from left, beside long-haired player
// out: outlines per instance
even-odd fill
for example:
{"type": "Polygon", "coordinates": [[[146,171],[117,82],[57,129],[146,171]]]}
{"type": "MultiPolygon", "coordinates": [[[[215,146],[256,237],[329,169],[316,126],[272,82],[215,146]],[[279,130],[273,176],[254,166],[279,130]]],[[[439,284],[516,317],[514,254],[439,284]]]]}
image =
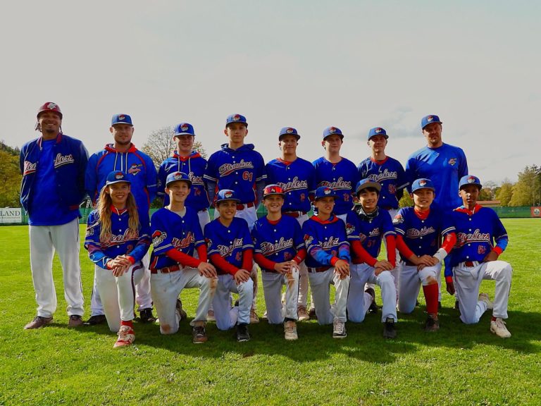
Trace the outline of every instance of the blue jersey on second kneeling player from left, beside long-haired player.
{"type": "Polygon", "coordinates": [[[194,250],[205,243],[197,212],[189,207],[186,207],[182,217],[169,209],[159,209],[152,214],[151,225],[154,251],[150,259],[150,269],[177,264],[166,254],[173,248],[193,257],[194,250]]]}

